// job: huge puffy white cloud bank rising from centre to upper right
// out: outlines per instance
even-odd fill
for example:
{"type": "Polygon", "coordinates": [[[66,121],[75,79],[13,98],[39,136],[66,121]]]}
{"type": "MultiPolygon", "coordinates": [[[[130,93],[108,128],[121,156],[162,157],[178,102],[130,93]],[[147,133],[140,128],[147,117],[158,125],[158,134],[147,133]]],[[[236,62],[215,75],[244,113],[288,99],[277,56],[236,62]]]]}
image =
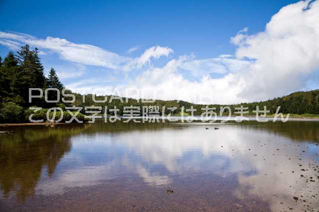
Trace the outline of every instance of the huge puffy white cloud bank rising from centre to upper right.
{"type": "Polygon", "coordinates": [[[144,72],[136,83],[139,89],[158,91],[159,99],[196,103],[260,101],[301,90],[310,74],[319,69],[319,1],[309,3],[300,1],[283,7],[263,32],[248,35],[248,28],[240,30],[231,38],[237,46],[236,58],[226,55],[192,62],[171,60],[161,69],[144,72]],[[178,67],[213,69],[224,75],[211,78],[206,71],[201,79],[191,82],[178,72],[178,67]]]}

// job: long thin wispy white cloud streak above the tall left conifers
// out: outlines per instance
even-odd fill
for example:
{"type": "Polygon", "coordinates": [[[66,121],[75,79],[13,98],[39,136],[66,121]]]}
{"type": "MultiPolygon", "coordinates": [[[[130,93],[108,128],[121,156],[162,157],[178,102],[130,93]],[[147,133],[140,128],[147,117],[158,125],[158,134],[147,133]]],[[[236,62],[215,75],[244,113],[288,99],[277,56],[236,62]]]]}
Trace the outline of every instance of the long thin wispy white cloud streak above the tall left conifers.
{"type": "MultiPolygon", "coordinates": [[[[29,44],[42,49],[42,51],[40,51],[42,55],[46,54],[43,50],[49,50],[57,53],[62,59],[69,62],[125,71],[141,68],[144,65],[150,64],[152,58],[159,59],[161,56],[168,56],[173,52],[173,50],[168,47],[153,46],[145,50],[140,57],[131,58],[120,56],[97,46],[76,44],[62,38],[46,37],[45,39],[38,39],[27,34],[1,31],[0,44],[12,49],[17,49],[21,45],[29,44]]],[[[134,47],[130,50],[132,52],[137,48],[138,47],[134,47]]]]}

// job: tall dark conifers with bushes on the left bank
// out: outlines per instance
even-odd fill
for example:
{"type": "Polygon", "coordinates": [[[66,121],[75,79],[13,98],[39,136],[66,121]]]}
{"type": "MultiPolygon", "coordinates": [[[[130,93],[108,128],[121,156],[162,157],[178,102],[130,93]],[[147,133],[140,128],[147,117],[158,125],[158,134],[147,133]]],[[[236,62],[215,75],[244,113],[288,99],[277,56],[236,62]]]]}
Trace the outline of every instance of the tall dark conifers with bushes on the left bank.
{"type": "MultiPolygon", "coordinates": [[[[51,107],[44,98],[29,103],[29,88],[64,88],[58,76],[51,68],[47,77],[39,58],[38,49],[22,46],[16,54],[9,52],[2,60],[0,57],[0,122],[23,122],[29,106],[51,107]]],[[[35,95],[35,94],[33,94],[35,95]]],[[[49,100],[56,93],[49,91],[49,100]]]]}

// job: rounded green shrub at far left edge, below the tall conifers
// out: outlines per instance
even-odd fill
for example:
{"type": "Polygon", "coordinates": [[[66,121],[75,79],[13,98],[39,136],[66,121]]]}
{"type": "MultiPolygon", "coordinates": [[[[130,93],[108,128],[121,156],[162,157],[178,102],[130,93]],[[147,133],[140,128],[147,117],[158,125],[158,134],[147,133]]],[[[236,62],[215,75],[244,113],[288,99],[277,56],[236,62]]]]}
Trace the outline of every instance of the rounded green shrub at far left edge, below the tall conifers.
{"type": "Polygon", "coordinates": [[[17,123],[24,121],[23,107],[15,103],[3,103],[0,108],[0,122],[2,123],[17,123]]]}

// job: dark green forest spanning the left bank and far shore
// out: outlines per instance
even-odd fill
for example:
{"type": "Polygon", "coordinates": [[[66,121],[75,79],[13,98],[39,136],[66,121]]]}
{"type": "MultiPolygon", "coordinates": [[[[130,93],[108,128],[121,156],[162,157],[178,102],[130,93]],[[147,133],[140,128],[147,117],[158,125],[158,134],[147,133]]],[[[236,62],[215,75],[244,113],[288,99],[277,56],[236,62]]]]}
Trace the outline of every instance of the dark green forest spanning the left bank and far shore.
{"type": "MultiPolygon", "coordinates": [[[[46,103],[43,98],[32,99],[32,103],[28,103],[28,89],[29,88],[57,88],[62,91],[64,89],[63,84],[59,81],[58,76],[53,68],[51,68],[48,76],[44,75],[44,69],[41,64],[38,50],[30,49],[28,45],[22,46],[15,54],[9,52],[6,57],[2,60],[0,57],[0,122],[25,122],[28,121],[28,116],[30,106],[38,106],[43,109],[37,113],[39,117],[45,117],[47,109],[53,106],[61,107],[62,109],[65,106],[102,106],[104,110],[105,106],[108,108],[117,108],[120,109],[118,115],[123,114],[124,106],[160,106],[160,111],[162,106],[165,106],[165,114],[172,113],[178,114],[181,110],[181,107],[193,108],[196,109],[194,112],[195,115],[200,115],[203,111],[201,108],[206,105],[199,105],[188,103],[184,101],[161,101],[156,100],[154,103],[143,103],[142,100],[136,100],[129,98],[128,102],[124,103],[120,100],[113,100],[109,103],[111,95],[107,96],[108,101],[106,103],[94,103],[92,99],[92,94],[85,96],[85,102],[83,103],[83,96],[81,94],[72,93],[67,91],[68,94],[73,94],[76,99],[73,104],[62,103],[60,97],[60,102],[58,103],[46,103]],[[170,111],[167,110],[167,107],[177,107],[176,110],[170,111]]],[[[49,100],[56,99],[56,92],[50,91],[49,100]]],[[[96,100],[103,100],[103,96],[98,96],[96,100]]],[[[256,109],[256,106],[259,106],[260,109],[263,106],[267,106],[267,109],[270,110],[270,113],[275,113],[278,106],[281,106],[280,112],[283,113],[295,113],[295,114],[304,114],[312,113],[319,114],[319,90],[307,91],[307,92],[295,92],[285,97],[279,97],[268,101],[254,102],[254,103],[240,103],[236,105],[209,105],[209,107],[216,107],[216,112],[219,113],[219,108],[221,106],[229,106],[232,113],[235,112],[235,107],[239,106],[248,107],[250,113],[256,109]]],[[[85,113],[84,109],[81,111],[85,113]]],[[[142,109],[141,109],[142,112],[142,109]]],[[[227,112],[227,110],[225,111],[227,112]]],[[[111,112],[108,112],[112,114],[111,112]]],[[[82,115],[82,114],[81,114],[82,115]]],[[[82,115],[83,116],[83,115],[82,115]]]]}

